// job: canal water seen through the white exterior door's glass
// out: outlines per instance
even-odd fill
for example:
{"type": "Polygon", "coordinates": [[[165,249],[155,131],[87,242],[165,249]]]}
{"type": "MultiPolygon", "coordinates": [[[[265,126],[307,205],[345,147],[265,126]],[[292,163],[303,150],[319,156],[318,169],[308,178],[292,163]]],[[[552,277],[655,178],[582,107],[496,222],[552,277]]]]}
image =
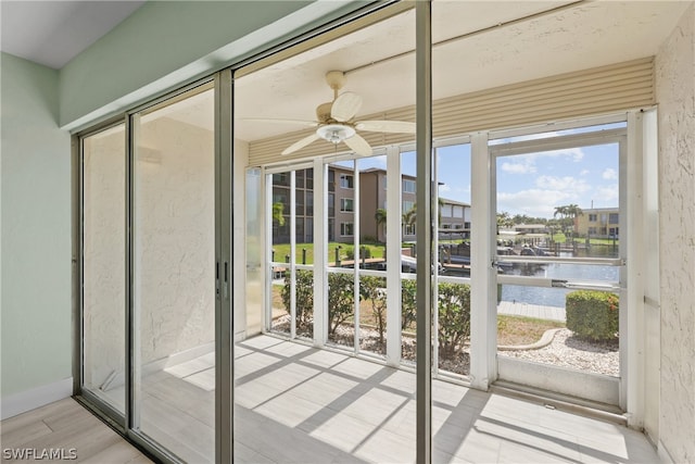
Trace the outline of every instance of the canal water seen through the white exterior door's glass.
{"type": "MultiPolygon", "coordinates": [[[[571,256],[567,254],[565,256],[571,256]]],[[[617,252],[612,247],[592,247],[589,252],[579,250],[579,256],[591,258],[617,258],[617,252]]],[[[578,256],[578,258],[579,258],[578,256]]],[[[515,264],[507,269],[507,275],[523,275],[545,277],[552,279],[563,279],[570,281],[592,281],[592,283],[617,283],[619,281],[618,266],[603,266],[573,263],[557,264],[515,264]]],[[[540,304],[544,306],[565,308],[565,297],[573,289],[527,287],[516,285],[502,286],[502,300],[515,301],[518,303],[540,304]]]]}

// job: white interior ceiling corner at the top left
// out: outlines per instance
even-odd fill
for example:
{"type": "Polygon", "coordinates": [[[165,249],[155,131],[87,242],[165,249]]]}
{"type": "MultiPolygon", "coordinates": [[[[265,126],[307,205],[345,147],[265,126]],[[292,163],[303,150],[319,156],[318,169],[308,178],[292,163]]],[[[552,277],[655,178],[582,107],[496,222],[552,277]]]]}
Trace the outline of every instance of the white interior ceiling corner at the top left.
{"type": "Polygon", "coordinates": [[[143,0],[2,0],[3,52],[60,70],[134,11],[143,0]]]}

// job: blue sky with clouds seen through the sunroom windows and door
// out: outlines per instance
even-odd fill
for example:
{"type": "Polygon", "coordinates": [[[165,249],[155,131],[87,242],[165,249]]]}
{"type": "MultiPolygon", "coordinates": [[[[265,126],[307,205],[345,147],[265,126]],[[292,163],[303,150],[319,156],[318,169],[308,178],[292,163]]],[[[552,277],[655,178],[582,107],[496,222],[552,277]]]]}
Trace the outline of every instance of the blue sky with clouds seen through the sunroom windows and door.
{"type": "MultiPolygon", "coordinates": [[[[558,134],[541,137],[555,135],[558,134]]],[[[517,137],[514,141],[523,139],[517,137]]],[[[440,196],[470,203],[470,146],[439,148],[437,153],[438,179],[444,184],[440,186],[440,196]]],[[[500,156],[496,161],[497,212],[549,218],[555,206],[570,203],[581,209],[590,209],[592,204],[593,208],[616,208],[618,163],[617,143],[500,156]]],[[[415,153],[403,153],[401,166],[404,174],[415,175],[415,153]]],[[[368,167],[386,168],[386,156],[361,159],[358,168],[368,167]]]]}

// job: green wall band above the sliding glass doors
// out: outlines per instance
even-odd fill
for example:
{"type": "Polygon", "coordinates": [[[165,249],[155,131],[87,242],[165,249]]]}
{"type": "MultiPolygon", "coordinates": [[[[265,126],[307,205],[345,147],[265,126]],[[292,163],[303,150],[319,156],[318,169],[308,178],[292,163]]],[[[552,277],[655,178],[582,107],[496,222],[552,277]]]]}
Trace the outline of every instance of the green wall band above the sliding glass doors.
{"type": "Polygon", "coordinates": [[[115,114],[367,3],[144,3],[61,70],[60,124],[74,129],[115,114]]]}

